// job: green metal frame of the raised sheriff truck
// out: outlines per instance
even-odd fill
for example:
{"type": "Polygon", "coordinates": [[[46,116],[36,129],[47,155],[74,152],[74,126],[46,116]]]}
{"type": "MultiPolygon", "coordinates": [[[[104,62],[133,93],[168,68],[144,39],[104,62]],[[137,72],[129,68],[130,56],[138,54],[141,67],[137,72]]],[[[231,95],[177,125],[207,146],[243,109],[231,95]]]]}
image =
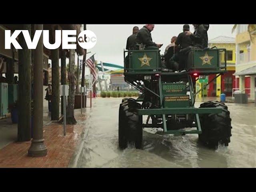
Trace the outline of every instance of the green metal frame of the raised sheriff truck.
{"type": "MultiPolygon", "coordinates": [[[[218,51],[224,51],[226,54],[225,49],[216,49],[218,51]]],[[[150,50],[147,50],[150,51],[150,50]]],[[[156,50],[152,50],[156,52],[156,50]]],[[[197,50],[194,50],[197,51],[197,50]]],[[[125,53],[128,52],[128,55],[130,56],[130,52],[140,52],[140,50],[132,50],[132,51],[124,51],[124,60],[125,60],[125,53]]],[[[219,56],[217,58],[219,61],[219,56]]],[[[124,76],[125,81],[128,82],[130,85],[134,86],[136,89],[138,89],[140,92],[147,92],[147,94],[152,94],[154,96],[157,96],[160,100],[160,106],[159,108],[151,108],[151,109],[138,109],[138,115],[162,115],[162,124],[148,124],[148,120],[146,124],[142,124],[142,127],[144,128],[152,128],[152,127],[161,127],[164,129],[163,134],[174,134],[174,135],[184,135],[184,134],[201,134],[201,124],[199,119],[199,114],[218,114],[222,112],[222,109],[220,107],[216,108],[195,108],[195,96],[198,94],[201,90],[194,93],[194,87],[193,87],[193,81],[192,81],[192,75],[194,73],[198,73],[198,75],[209,75],[209,74],[218,74],[220,76],[221,74],[226,73],[226,58],[224,66],[218,65],[218,67],[214,69],[207,69],[207,68],[200,68],[198,69],[191,69],[190,71],[186,72],[178,72],[178,73],[166,73],[166,72],[160,72],[159,68],[155,68],[154,70],[132,70],[130,68],[131,66],[131,59],[129,59],[129,64],[124,69],[124,76]],[[159,88],[159,94],[155,93],[153,90],[150,90],[149,88],[146,88],[142,84],[140,84],[140,80],[144,81],[144,76],[151,76],[154,77],[154,80],[158,81],[158,88],[159,88]],[[186,80],[189,84],[190,89],[190,106],[188,107],[176,107],[176,108],[164,108],[163,102],[164,102],[164,95],[162,90],[162,80],[164,79],[164,82],[174,82],[174,80],[186,80]],[[192,127],[196,127],[196,130],[167,130],[166,125],[166,115],[179,115],[179,114],[195,114],[195,124],[193,124],[192,127]]],[[[216,79],[218,76],[216,76],[214,79],[216,79]]],[[[214,80],[213,79],[213,80],[214,80]]],[[[208,82],[210,84],[213,80],[208,82]]],[[[206,84],[205,86],[207,86],[206,84]]],[[[143,98],[139,97],[136,101],[137,102],[143,102],[143,98]]],[[[148,118],[149,119],[149,118],[148,118]]]]}

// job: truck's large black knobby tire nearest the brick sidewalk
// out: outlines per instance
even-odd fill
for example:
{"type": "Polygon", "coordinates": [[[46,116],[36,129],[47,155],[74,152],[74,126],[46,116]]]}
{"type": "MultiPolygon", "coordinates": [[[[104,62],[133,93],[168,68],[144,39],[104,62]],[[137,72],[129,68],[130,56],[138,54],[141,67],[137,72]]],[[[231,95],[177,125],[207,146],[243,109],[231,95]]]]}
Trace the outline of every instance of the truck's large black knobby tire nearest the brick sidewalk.
{"type": "Polygon", "coordinates": [[[127,143],[134,143],[137,149],[142,148],[142,116],[137,109],[140,104],[134,99],[126,99],[119,107],[118,142],[121,149],[127,148],[127,143]]]}

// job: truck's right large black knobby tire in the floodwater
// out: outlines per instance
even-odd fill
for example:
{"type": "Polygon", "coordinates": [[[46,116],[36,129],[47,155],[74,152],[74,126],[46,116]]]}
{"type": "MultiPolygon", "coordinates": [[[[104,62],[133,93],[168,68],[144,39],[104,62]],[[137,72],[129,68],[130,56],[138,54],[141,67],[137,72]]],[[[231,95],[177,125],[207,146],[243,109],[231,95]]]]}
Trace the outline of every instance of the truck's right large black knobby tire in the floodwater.
{"type": "Polygon", "coordinates": [[[219,143],[228,146],[232,136],[230,112],[224,103],[208,101],[202,103],[199,108],[216,107],[221,107],[222,112],[219,114],[200,115],[202,134],[199,134],[199,141],[210,148],[217,148],[219,143]]]}

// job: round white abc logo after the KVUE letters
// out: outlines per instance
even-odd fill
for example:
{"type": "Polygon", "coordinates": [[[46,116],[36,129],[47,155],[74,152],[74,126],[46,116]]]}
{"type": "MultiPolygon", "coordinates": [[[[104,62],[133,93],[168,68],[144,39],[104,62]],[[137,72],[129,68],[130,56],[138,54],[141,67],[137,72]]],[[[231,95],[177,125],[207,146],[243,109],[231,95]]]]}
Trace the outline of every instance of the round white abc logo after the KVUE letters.
{"type": "Polygon", "coordinates": [[[84,49],[93,48],[96,42],[96,35],[90,30],[84,30],[78,36],[78,44],[84,49]]]}

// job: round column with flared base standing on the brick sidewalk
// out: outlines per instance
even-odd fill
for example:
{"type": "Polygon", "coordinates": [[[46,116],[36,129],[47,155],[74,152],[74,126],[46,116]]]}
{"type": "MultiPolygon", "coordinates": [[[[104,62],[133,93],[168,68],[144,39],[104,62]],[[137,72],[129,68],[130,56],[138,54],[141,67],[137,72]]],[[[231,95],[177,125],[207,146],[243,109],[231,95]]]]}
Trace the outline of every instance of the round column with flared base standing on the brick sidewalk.
{"type": "MultiPolygon", "coordinates": [[[[43,25],[35,24],[34,30],[43,30],[43,25]]],[[[43,139],[43,35],[41,35],[36,50],[34,51],[33,68],[33,139],[28,149],[28,156],[40,157],[47,155],[47,148],[44,145],[43,139]]]]}

